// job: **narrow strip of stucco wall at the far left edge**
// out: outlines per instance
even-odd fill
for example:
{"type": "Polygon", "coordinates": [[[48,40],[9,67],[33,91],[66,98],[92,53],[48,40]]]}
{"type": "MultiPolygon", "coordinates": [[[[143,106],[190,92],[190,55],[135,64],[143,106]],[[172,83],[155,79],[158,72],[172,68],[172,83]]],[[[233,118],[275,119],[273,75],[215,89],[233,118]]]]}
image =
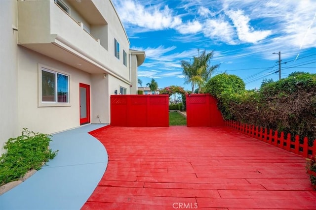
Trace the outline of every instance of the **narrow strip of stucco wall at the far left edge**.
{"type": "Polygon", "coordinates": [[[0,1],[0,156],[4,143],[16,137],[17,115],[17,2],[0,1]]]}

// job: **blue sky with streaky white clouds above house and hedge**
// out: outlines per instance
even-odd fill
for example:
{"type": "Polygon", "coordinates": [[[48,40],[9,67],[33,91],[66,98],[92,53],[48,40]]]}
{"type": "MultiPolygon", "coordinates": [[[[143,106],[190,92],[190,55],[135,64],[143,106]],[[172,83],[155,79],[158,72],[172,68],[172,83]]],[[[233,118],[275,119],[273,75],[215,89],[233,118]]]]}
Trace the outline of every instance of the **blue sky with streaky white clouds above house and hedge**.
{"type": "Polygon", "coordinates": [[[113,0],[131,49],[145,51],[138,77],[184,85],[181,60],[214,51],[214,75],[236,74],[246,89],[293,71],[316,73],[316,0],[113,0]]]}

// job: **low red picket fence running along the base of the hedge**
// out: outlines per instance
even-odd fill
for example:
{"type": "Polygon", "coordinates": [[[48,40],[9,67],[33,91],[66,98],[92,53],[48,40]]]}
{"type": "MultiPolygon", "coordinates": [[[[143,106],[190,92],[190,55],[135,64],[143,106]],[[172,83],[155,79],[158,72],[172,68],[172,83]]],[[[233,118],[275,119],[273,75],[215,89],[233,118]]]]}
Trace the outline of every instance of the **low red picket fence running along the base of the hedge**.
{"type": "Polygon", "coordinates": [[[287,134],[286,138],[284,138],[283,132],[278,135],[278,132],[273,131],[272,129],[268,131],[267,128],[243,124],[232,120],[226,121],[226,125],[234,128],[235,130],[238,130],[243,134],[259,139],[281,149],[302,155],[303,157],[312,158],[312,156],[316,155],[316,140],[314,142],[314,146],[309,147],[307,137],[303,139],[304,143],[301,144],[300,137],[298,135],[295,136],[295,141],[292,141],[291,134],[289,133],[287,134]]]}

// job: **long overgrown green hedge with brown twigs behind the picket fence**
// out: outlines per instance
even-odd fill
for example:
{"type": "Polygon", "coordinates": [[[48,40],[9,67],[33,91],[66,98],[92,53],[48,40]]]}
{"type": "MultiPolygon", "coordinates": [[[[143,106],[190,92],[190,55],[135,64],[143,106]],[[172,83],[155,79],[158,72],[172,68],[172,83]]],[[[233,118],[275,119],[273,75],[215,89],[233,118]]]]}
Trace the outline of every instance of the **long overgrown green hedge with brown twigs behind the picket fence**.
{"type": "Polygon", "coordinates": [[[267,129],[316,139],[316,74],[294,74],[261,87],[244,90],[235,75],[221,74],[207,83],[206,90],[218,99],[226,120],[236,120],[267,129]]]}

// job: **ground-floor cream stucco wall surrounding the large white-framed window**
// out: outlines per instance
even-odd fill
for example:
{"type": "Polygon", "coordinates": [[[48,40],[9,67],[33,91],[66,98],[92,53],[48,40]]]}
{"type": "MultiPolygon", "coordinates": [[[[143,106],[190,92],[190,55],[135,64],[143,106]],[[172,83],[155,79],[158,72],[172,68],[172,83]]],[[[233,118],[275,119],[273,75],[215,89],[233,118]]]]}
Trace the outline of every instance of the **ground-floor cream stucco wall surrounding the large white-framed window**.
{"type": "Polygon", "coordinates": [[[90,74],[24,47],[18,55],[18,129],[54,133],[79,126],[79,83],[91,85],[90,74]],[[70,75],[70,106],[38,107],[39,63],[70,75]]]}

